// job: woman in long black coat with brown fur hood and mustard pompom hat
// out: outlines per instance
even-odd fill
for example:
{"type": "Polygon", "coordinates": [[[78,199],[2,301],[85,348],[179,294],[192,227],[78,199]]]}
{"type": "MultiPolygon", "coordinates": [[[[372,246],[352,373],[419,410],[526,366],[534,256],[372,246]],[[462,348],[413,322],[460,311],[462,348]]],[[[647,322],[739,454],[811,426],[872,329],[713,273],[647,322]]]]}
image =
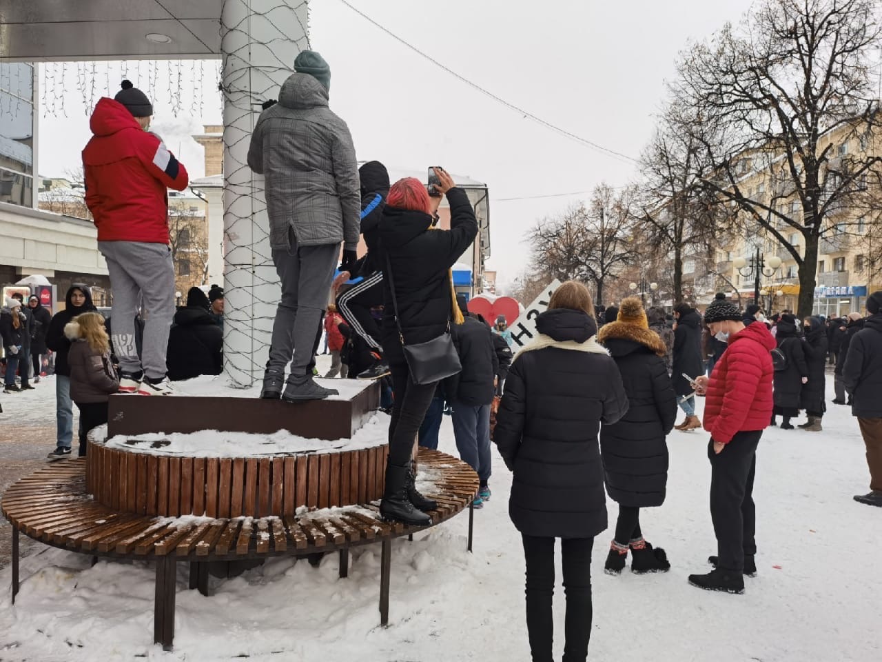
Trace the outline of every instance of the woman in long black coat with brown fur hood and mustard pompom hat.
{"type": "Polygon", "coordinates": [[[661,506],[668,483],[668,444],[674,427],[676,395],[665,366],[667,347],[651,331],[639,298],[628,297],[618,320],[606,324],[597,340],[609,350],[622,374],[630,406],[624,418],[601,430],[601,455],[607,493],[618,503],[616,535],[605,569],[618,575],[632,550],[636,573],[667,571],[661,547],[653,548],[640,530],[640,508],[661,506]]]}

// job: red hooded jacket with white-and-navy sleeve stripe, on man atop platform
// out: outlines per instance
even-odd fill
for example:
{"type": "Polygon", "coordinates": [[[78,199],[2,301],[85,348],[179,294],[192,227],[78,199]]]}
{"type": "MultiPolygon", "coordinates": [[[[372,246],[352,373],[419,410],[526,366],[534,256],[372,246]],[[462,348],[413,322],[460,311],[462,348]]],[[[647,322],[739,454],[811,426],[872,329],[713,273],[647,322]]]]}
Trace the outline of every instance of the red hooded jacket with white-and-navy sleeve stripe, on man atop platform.
{"type": "Polygon", "coordinates": [[[167,191],[187,188],[187,170],[122,103],[101,98],[89,126],[83,169],[98,241],[168,244],[167,191]]]}

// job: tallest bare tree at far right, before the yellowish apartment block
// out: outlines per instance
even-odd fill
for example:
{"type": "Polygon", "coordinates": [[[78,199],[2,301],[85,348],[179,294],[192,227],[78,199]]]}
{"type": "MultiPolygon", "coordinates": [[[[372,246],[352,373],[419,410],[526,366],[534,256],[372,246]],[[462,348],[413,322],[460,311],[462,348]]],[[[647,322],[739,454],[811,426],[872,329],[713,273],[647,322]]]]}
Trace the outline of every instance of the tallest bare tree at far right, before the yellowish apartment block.
{"type": "Polygon", "coordinates": [[[875,10],[873,0],[764,0],[740,29],[726,26],[686,53],[672,86],[677,104],[702,119],[695,137],[714,172],[702,182],[796,261],[801,316],[811,314],[830,218],[879,167],[868,151],[879,124],[875,10]],[[763,184],[747,188],[757,173],[763,184]],[[804,237],[804,251],[788,233],[804,237]]]}

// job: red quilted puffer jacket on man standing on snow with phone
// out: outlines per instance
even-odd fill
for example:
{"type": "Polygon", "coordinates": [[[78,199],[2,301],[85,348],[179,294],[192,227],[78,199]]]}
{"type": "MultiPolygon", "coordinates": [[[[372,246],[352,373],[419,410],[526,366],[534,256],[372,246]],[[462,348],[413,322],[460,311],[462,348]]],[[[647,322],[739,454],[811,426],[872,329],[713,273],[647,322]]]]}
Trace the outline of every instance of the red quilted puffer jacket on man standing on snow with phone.
{"type": "Polygon", "coordinates": [[[728,444],[735,433],[765,430],[771,422],[774,347],[759,322],[729,337],[707,383],[704,426],[714,441],[728,444]]]}

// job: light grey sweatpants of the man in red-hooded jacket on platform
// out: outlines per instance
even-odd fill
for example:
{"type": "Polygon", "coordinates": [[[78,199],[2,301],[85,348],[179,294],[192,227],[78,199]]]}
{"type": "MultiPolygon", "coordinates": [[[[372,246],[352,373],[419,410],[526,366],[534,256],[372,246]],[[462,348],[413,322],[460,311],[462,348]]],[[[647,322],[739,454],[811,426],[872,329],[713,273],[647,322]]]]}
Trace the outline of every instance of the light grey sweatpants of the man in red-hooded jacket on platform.
{"type": "Polygon", "coordinates": [[[120,372],[141,372],[152,380],[165,377],[168,331],[175,317],[175,267],[166,244],[100,241],[98,250],[108,263],[113,310],[110,340],[120,372]],[[141,357],[135,347],[135,314],[143,306],[144,343],[141,357]]]}

